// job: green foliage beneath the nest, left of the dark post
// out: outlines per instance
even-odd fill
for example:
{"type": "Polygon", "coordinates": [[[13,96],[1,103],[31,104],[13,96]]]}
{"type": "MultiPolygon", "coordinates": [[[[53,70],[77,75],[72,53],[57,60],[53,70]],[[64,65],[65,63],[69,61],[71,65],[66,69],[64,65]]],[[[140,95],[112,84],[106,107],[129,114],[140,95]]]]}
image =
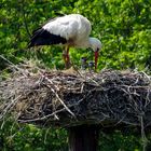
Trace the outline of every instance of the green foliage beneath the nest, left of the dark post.
{"type": "Polygon", "coordinates": [[[0,129],[1,151],[67,151],[67,148],[65,129],[18,125],[13,121],[5,122],[0,129]]]}

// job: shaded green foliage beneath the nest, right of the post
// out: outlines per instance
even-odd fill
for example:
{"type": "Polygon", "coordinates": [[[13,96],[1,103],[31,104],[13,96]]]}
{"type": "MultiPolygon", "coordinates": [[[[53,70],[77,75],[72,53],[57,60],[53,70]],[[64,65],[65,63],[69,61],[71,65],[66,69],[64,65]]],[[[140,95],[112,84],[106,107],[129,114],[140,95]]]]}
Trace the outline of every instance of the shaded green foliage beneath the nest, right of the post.
{"type": "Polygon", "coordinates": [[[124,134],[114,131],[110,134],[100,133],[99,150],[102,151],[141,151],[140,136],[136,139],[133,133],[124,134]]]}

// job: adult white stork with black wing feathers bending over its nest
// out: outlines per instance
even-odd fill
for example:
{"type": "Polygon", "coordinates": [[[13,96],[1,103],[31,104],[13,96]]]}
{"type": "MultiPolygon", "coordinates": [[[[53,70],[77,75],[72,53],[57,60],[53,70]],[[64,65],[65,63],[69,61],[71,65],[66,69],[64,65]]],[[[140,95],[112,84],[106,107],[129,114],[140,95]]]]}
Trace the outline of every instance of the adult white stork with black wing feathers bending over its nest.
{"type": "Polygon", "coordinates": [[[69,47],[91,47],[94,51],[96,69],[101,42],[97,38],[90,37],[91,30],[90,20],[80,14],[56,17],[33,31],[28,47],[61,44],[65,46],[63,56],[66,67],[70,64],[69,47]]]}

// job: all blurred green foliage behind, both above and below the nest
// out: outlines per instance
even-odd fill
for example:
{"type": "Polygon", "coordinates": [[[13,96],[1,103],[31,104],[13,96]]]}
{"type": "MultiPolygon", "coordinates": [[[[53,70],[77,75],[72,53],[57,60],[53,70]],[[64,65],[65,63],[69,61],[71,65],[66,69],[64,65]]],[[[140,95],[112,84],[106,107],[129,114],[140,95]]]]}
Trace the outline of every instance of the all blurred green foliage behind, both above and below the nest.
{"type": "MultiPolygon", "coordinates": [[[[80,13],[93,26],[92,36],[102,42],[98,68],[151,71],[151,1],[150,0],[1,0],[0,55],[13,64],[31,58],[49,68],[64,68],[61,49],[43,46],[27,50],[32,30],[57,14],[80,13]]],[[[86,50],[71,49],[71,60],[93,56],[86,50]]],[[[8,63],[0,57],[0,71],[8,63]]],[[[65,129],[45,129],[33,125],[1,123],[0,149],[3,151],[67,151],[65,129]]],[[[139,137],[140,138],[140,137],[139,137]]],[[[150,136],[148,138],[151,139],[150,136]]],[[[134,133],[101,134],[102,151],[139,151],[141,140],[134,133]]]]}

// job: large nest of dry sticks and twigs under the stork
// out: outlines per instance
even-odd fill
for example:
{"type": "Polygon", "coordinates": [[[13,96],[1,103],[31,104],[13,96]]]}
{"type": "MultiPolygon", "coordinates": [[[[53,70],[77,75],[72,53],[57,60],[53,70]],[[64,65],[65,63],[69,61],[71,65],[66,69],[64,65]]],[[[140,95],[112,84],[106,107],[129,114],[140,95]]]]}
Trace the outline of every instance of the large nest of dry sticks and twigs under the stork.
{"type": "MultiPolygon", "coordinates": [[[[18,68],[17,68],[18,69],[18,68]]],[[[0,82],[0,119],[23,123],[151,125],[151,80],[145,72],[18,69],[0,82]]]]}

